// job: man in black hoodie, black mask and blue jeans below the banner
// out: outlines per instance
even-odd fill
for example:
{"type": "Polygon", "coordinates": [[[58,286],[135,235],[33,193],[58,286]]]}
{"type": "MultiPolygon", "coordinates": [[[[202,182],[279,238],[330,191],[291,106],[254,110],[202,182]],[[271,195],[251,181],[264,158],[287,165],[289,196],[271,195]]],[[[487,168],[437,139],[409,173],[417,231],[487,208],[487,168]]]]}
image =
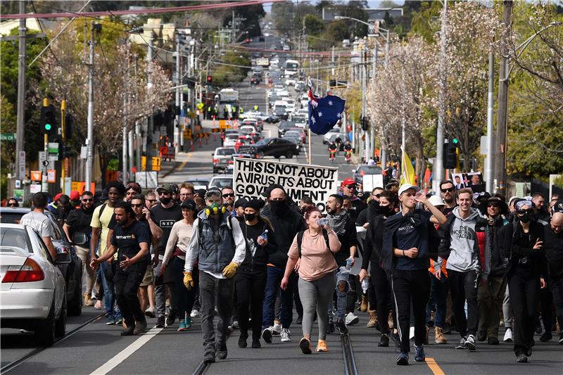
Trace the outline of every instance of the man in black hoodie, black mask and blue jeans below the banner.
{"type": "MultiPolygon", "coordinates": [[[[272,343],[274,308],[279,284],[286,269],[287,253],[296,234],[305,230],[305,222],[301,214],[289,208],[286,192],[283,188],[272,189],[268,202],[270,203],[270,210],[263,210],[262,215],[272,223],[278,247],[277,251],[270,255],[270,263],[267,264],[266,290],[264,305],[262,306],[262,338],[266,343],[272,343]]],[[[293,273],[287,288],[281,290],[281,342],[291,341],[289,326],[293,314],[293,284],[297,281],[296,279],[296,274],[293,273]]]]}

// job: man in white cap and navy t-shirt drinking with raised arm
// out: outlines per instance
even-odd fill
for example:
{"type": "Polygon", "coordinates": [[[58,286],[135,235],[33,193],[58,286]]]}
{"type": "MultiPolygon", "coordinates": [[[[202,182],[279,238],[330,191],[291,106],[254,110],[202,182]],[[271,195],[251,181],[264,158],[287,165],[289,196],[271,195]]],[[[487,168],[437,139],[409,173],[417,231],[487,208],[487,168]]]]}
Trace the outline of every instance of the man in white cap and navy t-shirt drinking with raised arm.
{"type": "Polygon", "coordinates": [[[391,274],[391,288],[396,304],[400,354],[398,365],[407,365],[410,351],[410,310],[415,317],[415,361],[424,362],[422,344],[426,337],[426,303],[430,294],[428,265],[430,250],[435,248],[436,229],[431,217],[444,224],[443,213],[428,201],[418,186],[403,184],[398,194],[401,211],[385,222],[383,249],[381,253],[384,269],[391,274]],[[415,209],[417,202],[428,211],[415,209]]]}

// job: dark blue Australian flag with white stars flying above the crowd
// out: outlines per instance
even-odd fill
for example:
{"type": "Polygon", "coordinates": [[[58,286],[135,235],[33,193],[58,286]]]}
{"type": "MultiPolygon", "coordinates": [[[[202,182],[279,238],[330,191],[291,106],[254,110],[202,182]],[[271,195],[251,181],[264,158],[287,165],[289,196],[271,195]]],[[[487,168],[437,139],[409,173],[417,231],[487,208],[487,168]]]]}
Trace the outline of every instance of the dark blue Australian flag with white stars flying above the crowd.
{"type": "Polygon", "coordinates": [[[342,118],[346,101],[334,95],[320,98],[312,94],[309,84],[309,129],[315,134],[327,134],[342,118]]]}

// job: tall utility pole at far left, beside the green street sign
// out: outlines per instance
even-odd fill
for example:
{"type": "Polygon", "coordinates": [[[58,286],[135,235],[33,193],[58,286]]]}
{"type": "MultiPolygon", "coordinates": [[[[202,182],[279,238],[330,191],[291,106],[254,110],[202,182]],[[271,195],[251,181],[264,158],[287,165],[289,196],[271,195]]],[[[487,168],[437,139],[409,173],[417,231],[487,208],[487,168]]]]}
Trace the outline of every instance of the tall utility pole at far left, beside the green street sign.
{"type": "MultiPolygon", "coordinates": [[[[25,13],[25,1],[20,1],[20,14],[25,13]]],[[[24,126],[25,126],[25,18],[20,18],[19,51],[18,51],[18,117],[15,129],[15,179],[25,179],[25,165],[20,167],[20,153],[24,151],[24,126]],[[21,174],[20,172],[22,172],[21,174]]],[[[25,160],[25,157],[24,157],[25,160]]]]}

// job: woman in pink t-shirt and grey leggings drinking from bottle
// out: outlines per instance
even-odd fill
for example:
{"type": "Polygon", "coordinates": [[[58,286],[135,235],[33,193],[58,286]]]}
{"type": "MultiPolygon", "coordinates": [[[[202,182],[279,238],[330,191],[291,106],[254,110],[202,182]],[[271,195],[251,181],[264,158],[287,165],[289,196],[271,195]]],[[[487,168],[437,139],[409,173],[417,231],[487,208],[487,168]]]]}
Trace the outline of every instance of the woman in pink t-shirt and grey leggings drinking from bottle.
{"type": "Polygon", "coordinates": [[[305,222],[309,229],[297,234],[293,239],[287,253],[289,259],[284,279],[281,280],[281,288],[285,289],[289,275],[294,268],[298,269],[299,296],[303,304],[303,338],[299,342],[299,347],[304,354],[311,353],[310,341],[315,310],[319,320],[317,352],[327,351],[325,338],[328,309],[336,286],[334,271],[338,266],[334,260],[334,253],[340,250],[341,243],[328,224],[322,225],[321,219],[322,213],[315,206],[305,210],[305,222]],[[302,236],[301,249],[298,245],[299,236],[302,236]]]}

